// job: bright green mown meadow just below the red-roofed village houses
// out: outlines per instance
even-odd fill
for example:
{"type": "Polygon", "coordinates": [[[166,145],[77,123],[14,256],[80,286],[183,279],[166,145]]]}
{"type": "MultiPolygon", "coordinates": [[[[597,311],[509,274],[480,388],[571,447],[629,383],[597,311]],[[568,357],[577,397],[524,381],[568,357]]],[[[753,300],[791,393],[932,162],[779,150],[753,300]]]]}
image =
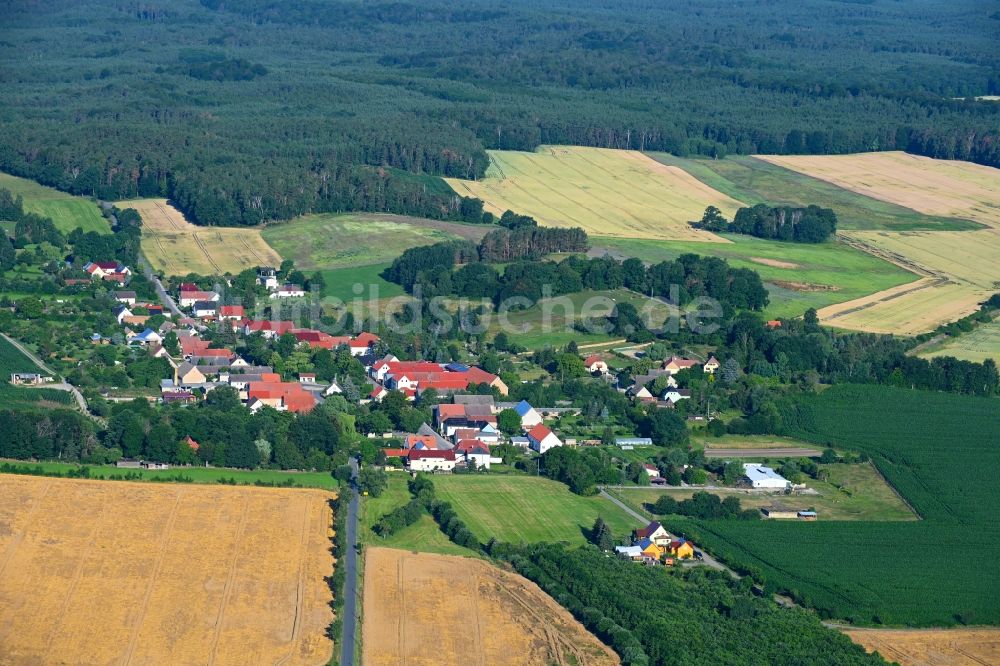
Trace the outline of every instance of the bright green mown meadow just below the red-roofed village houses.
{"type": "Polygon", "coordinates": [[[615,538],[641,525],[609,500],[574,495],[564,484],[531,476],[434,477],[439,499],[451,502],[480,541],[564,541],[582,544],[598,516],[615,538]]]}

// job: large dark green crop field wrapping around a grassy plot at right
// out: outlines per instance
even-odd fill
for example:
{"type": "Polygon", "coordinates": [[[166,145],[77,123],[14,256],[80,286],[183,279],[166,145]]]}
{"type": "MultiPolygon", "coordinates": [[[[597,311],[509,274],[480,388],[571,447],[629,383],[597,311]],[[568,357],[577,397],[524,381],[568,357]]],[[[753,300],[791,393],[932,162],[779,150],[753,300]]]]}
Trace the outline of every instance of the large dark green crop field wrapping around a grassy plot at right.
{"type": "Polygon", "coordinates": [[[797,437],[871,455],[923,520],[667,522],[823,616],[861,624],[998,624],[998,404],[840,385],[785,410],[797,437]]]}

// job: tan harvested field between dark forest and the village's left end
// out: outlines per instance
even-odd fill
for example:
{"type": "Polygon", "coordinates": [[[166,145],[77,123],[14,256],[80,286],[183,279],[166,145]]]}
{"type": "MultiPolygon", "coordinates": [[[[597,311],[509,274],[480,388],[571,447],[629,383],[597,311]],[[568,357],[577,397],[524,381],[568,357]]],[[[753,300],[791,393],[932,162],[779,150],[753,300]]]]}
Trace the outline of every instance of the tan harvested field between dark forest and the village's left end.
{"type": "Polygon", "coordinates": [[[191,224],[166,199],[119,201],[142,216],[142,252],[153,270],[167,275],[236,274],[256,266],[277,266],[281,256],[259,229],[200,227],[191,224]]]}

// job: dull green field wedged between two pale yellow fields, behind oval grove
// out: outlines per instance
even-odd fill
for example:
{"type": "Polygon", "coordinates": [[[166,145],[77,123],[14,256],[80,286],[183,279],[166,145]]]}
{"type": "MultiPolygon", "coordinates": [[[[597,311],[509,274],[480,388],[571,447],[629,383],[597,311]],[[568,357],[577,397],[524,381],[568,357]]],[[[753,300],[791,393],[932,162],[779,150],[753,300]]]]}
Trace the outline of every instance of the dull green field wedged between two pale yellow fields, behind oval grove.
{"type": "Polygon", "coordinates": [[[857,194],[754,157],[708,160],[685,159],[665,153],[651,153],[650,156],[663,164],[680,167],[703,183],[748,205],[816,204],[832,208],[841,229],[964,231],[980,228],[968,220],[925,215],[857,194]]]}

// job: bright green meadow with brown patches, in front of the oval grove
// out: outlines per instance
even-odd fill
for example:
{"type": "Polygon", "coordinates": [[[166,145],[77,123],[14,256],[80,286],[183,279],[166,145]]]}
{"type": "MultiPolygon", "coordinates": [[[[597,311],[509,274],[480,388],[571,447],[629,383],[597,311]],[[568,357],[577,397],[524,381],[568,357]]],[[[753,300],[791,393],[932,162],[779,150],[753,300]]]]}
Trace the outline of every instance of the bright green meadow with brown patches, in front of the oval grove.
{"type": "Polygon", "coordinates": [[[594,238],[591,243],[598,251],[605,249],[614,256],[638,257],[650,263],[692,252],[757,271],[771,294],[771,304],[765,310],[771,317],[797,317],[811,307],[818,310],[917,279],[909,271],[836,241],[813,245],[736,234],[725,237],[733,242],[594,238]]]}

